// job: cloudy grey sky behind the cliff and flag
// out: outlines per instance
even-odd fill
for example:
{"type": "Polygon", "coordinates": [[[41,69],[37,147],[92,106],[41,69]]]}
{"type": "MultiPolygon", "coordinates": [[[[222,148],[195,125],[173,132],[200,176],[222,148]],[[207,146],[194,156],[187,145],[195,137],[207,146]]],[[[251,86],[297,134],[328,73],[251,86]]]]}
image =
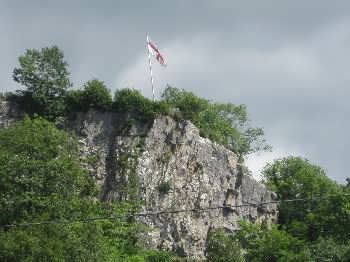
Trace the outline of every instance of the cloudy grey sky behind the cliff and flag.
{"type": "Polygon", "coordinates": [[[344,182],[350,148],[350,1],[0,0],[0,88],[28,48],[58,45],[76,88],[91,78],[150,96],[146,32],[165,54],[167,83],[246,104],[274,147],[266,161],[300,155],[344,182]]]}

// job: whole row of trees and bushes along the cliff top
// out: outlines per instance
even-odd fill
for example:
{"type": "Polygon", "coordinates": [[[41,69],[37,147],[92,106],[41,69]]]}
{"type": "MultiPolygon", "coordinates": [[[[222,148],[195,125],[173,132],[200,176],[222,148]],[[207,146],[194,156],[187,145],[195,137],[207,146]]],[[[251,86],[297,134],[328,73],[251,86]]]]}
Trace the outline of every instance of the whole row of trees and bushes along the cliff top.
{"type": "Polygon", "coordinates": [[[151,101],[137,90],[121,89],[116,91],[112,102],[109,90],[97,79],[88,81],[83,90],[67,92],[71,86],[68,65],[57,46],[28,49],[19,57],[19,62],[20,66],[13,71],[13,79],[27,89],[9,98],[18,102],[27,113],[55,120],[66,113],[93,108],[129,113],[143,122],[159,115],[171,115],[192,121],[202,136],[227,146],[241,157],[270,149],[263,138],[263,130],[249,125],[244,105],[211,103],[170,86],[164,90],[161,101],[151,101]]]}

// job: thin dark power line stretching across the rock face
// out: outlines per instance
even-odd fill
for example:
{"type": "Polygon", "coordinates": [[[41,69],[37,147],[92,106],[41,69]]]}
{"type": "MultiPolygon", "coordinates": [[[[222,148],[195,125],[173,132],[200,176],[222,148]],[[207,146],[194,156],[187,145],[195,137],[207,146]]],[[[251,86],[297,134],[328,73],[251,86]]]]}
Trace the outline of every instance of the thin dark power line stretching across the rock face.
{"type": "Polygon", "coordinates": [[[76,220],[48,220],[48,221],[39,221],[39,222],[29,222],[29,223],[15,223],[15,224],[7,224],[0,225],[0,228],[13,228],[13,227],[30,227],[30,226],[39,226],[39,225],[55,225],[55,224],[75,224],[75,223],[90,223],[97,221],[114,221],[121,219],[130,219],[135,217],[149,217],[149,216],[159,216],[165,214],[178,214],[178,213],[190,213],[190,212],[204,212],[215,209],[234,209],[241,207],[259,207],[270,204],[279,204],[282,202],[305,202],[312,201],[315,198],[295,198],[295,199],[287,199],[287,200],[276,200],[276,201],[267,201],[260,203],[248,203],[240,204],[240,205],[221,205],[221,206],[213,206],[213,207],[203,207],[203,208],[190,208],[190,209],[177,209],[177,210],[158,210],[153,212],[144,212],[144,213],[128,213],[126,215],[121,216],[108,216],[108,217],[91,217],[84,219],[76,219],[76,220]]]}

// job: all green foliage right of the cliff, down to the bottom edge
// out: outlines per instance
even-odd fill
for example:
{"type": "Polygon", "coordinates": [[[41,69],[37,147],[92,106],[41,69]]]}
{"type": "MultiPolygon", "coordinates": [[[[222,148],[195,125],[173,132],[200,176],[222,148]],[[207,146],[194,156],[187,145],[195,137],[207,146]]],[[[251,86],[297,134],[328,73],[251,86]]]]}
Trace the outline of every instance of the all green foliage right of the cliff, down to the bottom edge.
{"type": "Polygon", "coordinates": [[[245,261],[350,261],[348,186],[338,185],[300,157],[278,159],[263,175],[279,199],[313,201],[280,203],[278,225],[272,228],[242,221],[235,236],[216,238],[211,252],[218,261],[225,261],[228,239],[239,242],[245,261]]]}

